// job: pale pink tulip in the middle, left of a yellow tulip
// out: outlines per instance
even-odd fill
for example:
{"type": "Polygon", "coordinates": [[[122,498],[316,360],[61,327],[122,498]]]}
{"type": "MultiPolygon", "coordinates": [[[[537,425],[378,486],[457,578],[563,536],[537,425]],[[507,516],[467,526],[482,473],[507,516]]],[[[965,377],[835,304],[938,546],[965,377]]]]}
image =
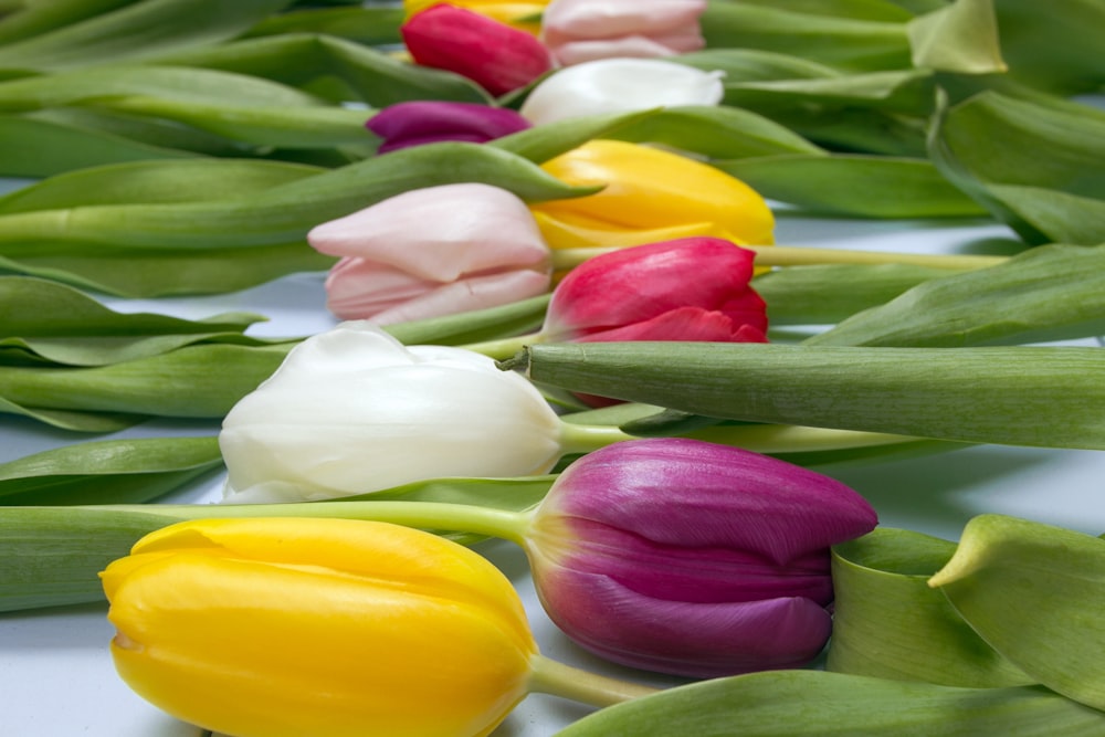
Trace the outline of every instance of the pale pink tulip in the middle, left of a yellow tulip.
{"type": "Polygon", "coordinates": [[[326,280],[343,319],[388,325],[544,294],[549,249],[525,202],[465,182],[403,192],[307,234],[340,255],[326,280]]]}

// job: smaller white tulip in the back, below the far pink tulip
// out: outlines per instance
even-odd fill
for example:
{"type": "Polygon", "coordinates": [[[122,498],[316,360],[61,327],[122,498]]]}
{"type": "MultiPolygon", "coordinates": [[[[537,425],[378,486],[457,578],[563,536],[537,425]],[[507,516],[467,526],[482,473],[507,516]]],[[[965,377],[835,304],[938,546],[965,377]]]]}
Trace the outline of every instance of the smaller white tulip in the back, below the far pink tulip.
{"type": "Polygon", "coordinates": [[[720,72],[659,59],[600,59],[566,66],[539,82],[522,104],[534,125],[656,107],[717,105],[720,72]]]}

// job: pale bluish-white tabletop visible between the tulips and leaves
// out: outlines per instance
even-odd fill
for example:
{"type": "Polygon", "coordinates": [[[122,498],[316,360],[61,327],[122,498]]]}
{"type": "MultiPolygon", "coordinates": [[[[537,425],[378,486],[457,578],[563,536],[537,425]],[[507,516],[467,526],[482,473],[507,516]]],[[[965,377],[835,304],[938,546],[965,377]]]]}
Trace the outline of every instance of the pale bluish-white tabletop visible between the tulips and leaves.
{"type": "MultiPolygon", "coordinates": [[[[1008,253],[1010,234],[979,223],[854,222],[782,219],[778,241],[909,252],[1008,253]]],[[[150,310],[204,317],[230,309],[266,314],[257,335],[290,336],[333,325],[324,308],[322,276],[302,274],[241,294],[171,301],[107,301],[125,312],[150,310]]],[[[1095,345],[1095,344],[1091,344],[1095,345]]],[[[215,431],[215,423],[158,423],[126,434],[215,431]]],[[[61,442],[82,440],[22,419],[0,417],[0,461],[61,442]]],[[[977,446],[920,460],[833,473],[864,494],[885,526],[907,527],[955,539],[983,512],[1018,515],[1094,535],[1105,531],[1105,454],[977,446]]],[[[213,498],[221,480],[189,489],[183,498],[213,498]]],[[[557,660],[665,685],[600,663],[568,642],[541,613],[526,561],[508,544],[480,548],[517,585],[543,652],[557,660]]],[[[139,699],[118,680],[107,651],[112,629],[99,604],[0,614],[0,735],[55,737],[199,737],[139,699]]],[[[535,695],[523,702],[496,737],[543,737],[590,709],[535,695]]],[[[319,735],[318,737],[325,737],[319,735]]]]}

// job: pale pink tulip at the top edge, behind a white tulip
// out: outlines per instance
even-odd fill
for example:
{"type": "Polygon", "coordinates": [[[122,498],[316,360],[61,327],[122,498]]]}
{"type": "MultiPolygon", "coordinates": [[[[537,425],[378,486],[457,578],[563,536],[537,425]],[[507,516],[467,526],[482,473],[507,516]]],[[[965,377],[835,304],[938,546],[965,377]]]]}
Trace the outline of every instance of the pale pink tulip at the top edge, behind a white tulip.
{"type": "Polygon", "coordinates": [[[568,66],[596,59],[667,56],[706,45],[705,0],[552,0],[541,39],[568,66]]]}

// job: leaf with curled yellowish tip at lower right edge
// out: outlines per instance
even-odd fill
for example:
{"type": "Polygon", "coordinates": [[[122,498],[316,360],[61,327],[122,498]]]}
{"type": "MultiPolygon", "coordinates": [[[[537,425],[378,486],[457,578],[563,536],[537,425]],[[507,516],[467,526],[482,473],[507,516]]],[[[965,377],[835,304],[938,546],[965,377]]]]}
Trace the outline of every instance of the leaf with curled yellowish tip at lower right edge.
{"type": "Polygon", "coordinates": [[[1105,709],[1105,539],[981,515],[929,585],[1025,673],[1105,709]]]}

